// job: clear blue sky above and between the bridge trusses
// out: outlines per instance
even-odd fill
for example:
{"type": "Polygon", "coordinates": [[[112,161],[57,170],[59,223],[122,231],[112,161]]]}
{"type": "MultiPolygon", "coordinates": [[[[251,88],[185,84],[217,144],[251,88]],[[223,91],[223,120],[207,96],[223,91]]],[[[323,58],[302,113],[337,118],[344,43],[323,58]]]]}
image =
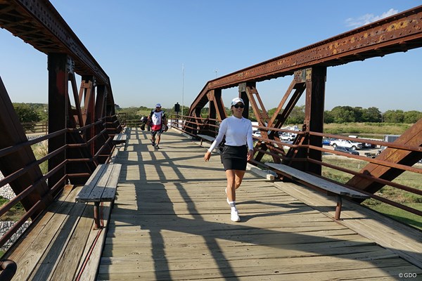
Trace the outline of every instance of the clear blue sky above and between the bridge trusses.
{"type": "MultiPolygon", "coordinates": [[[[191,105],[207,81],[334,37],[421,1],[53,0],[110,77],[115,103],[191,105]],[[182,70],[183,69],[183,70],[182,70]]],[[[328,67],[337,105],[422,111],[422,48],[328,67]]],[[[47,57],[0,30],[0,77],[15,103],[46,103],[47,57]]],[[[267,110],[293,77],[257,84],[267,110]]],[[[79,83],[78,79],[78,83],[79,83]]],[[[223,90],[224,103],[237,88],[223,90]]],[[[300,100],[298,105],[303,105],[300,100]]]]}

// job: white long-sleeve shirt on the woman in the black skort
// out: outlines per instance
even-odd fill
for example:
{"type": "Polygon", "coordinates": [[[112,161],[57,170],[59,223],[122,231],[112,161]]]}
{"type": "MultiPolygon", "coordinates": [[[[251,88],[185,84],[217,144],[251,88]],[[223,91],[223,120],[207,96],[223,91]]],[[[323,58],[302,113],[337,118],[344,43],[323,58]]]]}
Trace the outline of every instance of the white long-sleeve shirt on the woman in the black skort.
{"type": "Polygon", "coordinates": [[[219,126],[217,138],[208,149],[209,152],[212,152],[223,141],[224,135],[226,136],[226,145],[248,145],[248,149],[253,150],[252,122],[250,122],[250,119],[234,116],[224,119],[219,126]]]}

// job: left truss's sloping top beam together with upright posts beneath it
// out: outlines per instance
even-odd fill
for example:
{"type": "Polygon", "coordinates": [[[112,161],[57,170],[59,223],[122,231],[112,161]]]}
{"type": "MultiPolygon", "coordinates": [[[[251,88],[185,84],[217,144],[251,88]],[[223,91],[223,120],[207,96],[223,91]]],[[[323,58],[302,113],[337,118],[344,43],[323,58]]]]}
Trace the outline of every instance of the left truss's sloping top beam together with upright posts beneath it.
{"type": "MultiPolygon", "coordinates": [[[[106,124],[106,117],[115,115],[113,93],[106,72],[49,1],[0,0],[0,27],[48,55],[50,132],[80,128],[94,124],[100,119],[106,124]],[[75,81],[76,73],[82,76],[81,88],[84,89],[79,95],[75,81]],[[68,95],[68,81],[72,86],[74,107],[68,95]],[[95,100],[96,86],[101,89],[98,93],[98,103],[95,100]]],[[[115,120],[108,121],[113,123],[115,120]]],[[[96,124],[84,131],[82,136],[73,131],[49,140],[50,152],[63,149],[63,145],[70,143],[88,142],[88,148],[63,150],[49,161],[49,170],[62,164],[62,168],[56,173],[57,181],[59,178],[63,181],[67,170],[73,170],[76,174],[87,174],[93,170],[92,164],[81,165],[82,168],[75,168],[77,165],[74,164],[63,165],[67,157],[91,159],[90,162],[94,161],[93,159],[96,159],[94,162],[105,161],[106,156],[98,155],[98,150],[101,148],[101,155],[110,153],[113,143],[107,141],[108,133],[113,134],[119,130],[113,124],[106,126],[110,127],[108,131],[103,124],[96,124]],[[98,138],[96,133],[100,133],[101,137],[98,138]],[[103,148],[106,142],[108,143],[103,148]],[[70,166],[74,168],[69,168],[70,166]]],[[[55,183],[56,181],[50,180],[50,188],[55,183]]]]}

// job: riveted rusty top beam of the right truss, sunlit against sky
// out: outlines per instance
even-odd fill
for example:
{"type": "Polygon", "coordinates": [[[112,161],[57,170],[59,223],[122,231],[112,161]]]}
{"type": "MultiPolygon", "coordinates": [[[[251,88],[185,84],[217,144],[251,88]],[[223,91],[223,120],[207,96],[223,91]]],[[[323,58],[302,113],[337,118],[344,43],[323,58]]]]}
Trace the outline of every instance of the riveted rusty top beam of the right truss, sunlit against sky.
{"type": "Polygon", "coordinates": [[[305,48],[208,81],[193,101],[191,112],[207,104],[207,92],[292,75],[316,65],[343,65],[422,46],[422,6],[378,20],[305,48]]]}

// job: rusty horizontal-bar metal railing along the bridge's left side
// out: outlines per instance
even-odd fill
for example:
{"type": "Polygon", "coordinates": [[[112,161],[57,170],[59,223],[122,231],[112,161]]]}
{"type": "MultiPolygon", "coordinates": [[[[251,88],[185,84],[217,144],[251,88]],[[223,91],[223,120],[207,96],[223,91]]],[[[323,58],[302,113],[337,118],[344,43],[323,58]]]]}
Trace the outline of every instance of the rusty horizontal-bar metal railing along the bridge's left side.
{"type": "MultiPolygon", "coordinates": [[[[113,137],[118,131],[116,129],[120,128],[120,122],[117,119],[117,116],[103,117],[93,124],[89,124],[80,128],[71,128],[71,129],[62,129],[54,133],[46,134],[45,136],[39,136],[32,140],[26,141],[25,143],[19,143],[18,145],[13,145],[8,148],[3,148],[0,150],[0,159],[1,157],[6,157],[6,155],[11,155],[13,152],[23,151],[27,148],[34,148],[41,143],[48,142],[49,140],[57,137],[69,136],[69,134],[76,134],[80,136],[79,140],[84,140],[80,143],[66,143],[65,145],[57,148],[54,151],[47,152],[45,151],[44,155],[38,155],[37,159],[27,164],[27,166],[22,166],[17,171],[12,174],[4,176],[0,179],[0,188],[6,188],[13,181],[17,181],[21,177],[27,176],[27,172],[34,169],[34,166],[42,166],[47,164],[51,159],[57,155],[62,154],[63,152],[70,152],[71,150],[82,150],[89,147],[94,148],[94,153],[89,157],[79,157],[79,158],[65,158],[60,164],[53,167],[50,171],[46,171],[43,176],[34,181],[32,184],[28,185],[23,189],[22,192],[18,193],[11,200],[6,202],[3,206],[0,207],[0,218],[8,214],[9,211],[17,204],[25,200],[28,196],[32,194],[40,185],[48,185],[49,190],[44,195],[39,197],[37,203],[33,204],[30,209],[23,211],[22,216],[15,221],[13,226],[9,228],[4,235],[0,237],[0,247],[2,247],[6,242],[18,231],[18,229],[23,226],[25,221],[31,221],[34,214],[39,214],[43,209],[48,207],[51,198],[56,197],[61,190],[63,190],[65,183],[72,183],[73,180],[78,179],[79,181],[86,181],[91,172],[89,170],[84,172],[68,171],[65,169],[65,174],[61,174],[58,171],[65,168],[67,165],[78,165],[78,164],[87,164],[91,163],[96,166],[98,163],[108,162],[110,160],[111,154],[113,153],[114,144],[113,137]],[[87,132],[92,128],[98,129],[98,133],[94,136],[91,136],[87,139],[87,132]],[[110,147],[112,149],[110,150],[110,147]],[[110,150],[110,151],[108,151],[110,150]],[[54,179],[54,178],[58,179],[54,179]],[[52,182],[55,181],[55,182],[52,182]]],[[[70,139],[70,138],[68,138],[70,139]]],[[[45,170],[45,169],[41,169],[45,170]]],[[[3,221],[4,219],[1,219],[3,221]]]]}

